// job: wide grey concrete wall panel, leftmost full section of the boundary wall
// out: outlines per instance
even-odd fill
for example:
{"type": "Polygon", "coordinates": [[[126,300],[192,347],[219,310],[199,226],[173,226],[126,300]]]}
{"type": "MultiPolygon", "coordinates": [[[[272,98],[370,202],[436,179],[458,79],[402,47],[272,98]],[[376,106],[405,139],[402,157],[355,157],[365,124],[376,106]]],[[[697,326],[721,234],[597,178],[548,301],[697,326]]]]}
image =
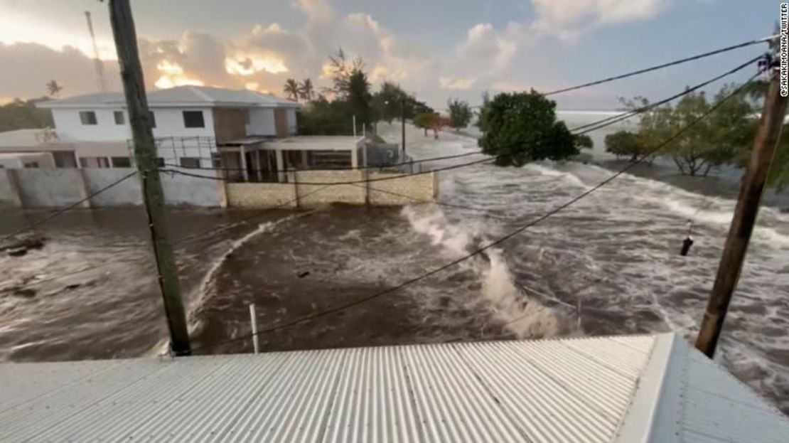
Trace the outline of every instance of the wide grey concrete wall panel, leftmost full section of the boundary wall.
{"type": "MultiPolygon", "coordinates": [[[[79,169],[13,169],[19,199],[24,208],[53,208],[73,205],[88,197],[79,169]]],[[[89,208],[85,201],[82,205],[89,208]]]]}

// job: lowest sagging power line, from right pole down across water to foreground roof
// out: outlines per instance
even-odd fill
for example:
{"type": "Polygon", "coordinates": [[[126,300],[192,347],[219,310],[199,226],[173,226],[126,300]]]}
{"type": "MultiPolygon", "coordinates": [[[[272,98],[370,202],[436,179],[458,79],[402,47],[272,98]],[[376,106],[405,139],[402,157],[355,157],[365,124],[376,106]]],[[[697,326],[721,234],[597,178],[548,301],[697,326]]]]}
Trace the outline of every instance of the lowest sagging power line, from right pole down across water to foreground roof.
{"type": "MultiPolygon", "coordinates": [[[[499,245],[502,242],[506,242],[510,238],[513,238],[515,235],[518,235],[521,232],[525,231],[529,227],[533,227],[533,226],[537,225],[538,223],[540,223],[540,222],[542,222],[544,220],[547,220],[549,217],[554,216],[556,213],[561,212],[561,211],[563,211],[566,208],[569,208],[571,205],[574,205],[578,201],[581,201],[581,199],[589,196],[589,194],[595,192],[596,190],[599,190],[603,186],[608,185],[608,183],[612,182],[613,180],[615,180],[615,178],[618,178],[620,175],[623,175],[626,171],[629,171],[632,167],[634,167],[638,163],[641,163],[641,161],[645,160],[647,157],[656,154],[658,151],[660,151],[660,149],[664,148],[666,145],[668,145],[672,141],[675,141],[680,135],[682,135],[682,133],[685,133],[687,130],[690,130],[690,128],[695,126],[698,122],[701,122],[701,120],[703,120],[704,118],[706,118],[707,116],[712,114],[712,112],[717,111],[717,109],[720,106],[722,106],[728,99],[731,99],[732,96],[735,96],[736,94],[741,92],[742,89],[745,88],[746,85],[750,84],[750,82],[753,81],[753,79],[756,78],[758,75],[759,74],[757,73],[753,77],[750,77],[750,79],[748,81],[746,81],[746,83],[743,83],[742,85],[739,86],[739,88],[736,88],[734,92],[731,92],[729,95],[724,97],[724,99],[721,99],[718,103],[716,103],[715,105],[710,107],[709,110],[706,111],[704,114],[702,114],[699,117],[695,118],[692,122],[688,123],[686,126],[683,126],[682,129],[680,129],[679,131],[674,133],[671,137],[668,137],[666,140],[664,140],[662,143],[660,143],[660,145],[657,145],[655,148],[653,148],[649,152],[645,153],[644,155],[640,156],[638,159],[636,159],[633,162],[631,162],[630,164],[626,165],[625,167],[623,167],[619,171],[616,171],[610,177],[606,178],[602,182],[597,183],[595,186],[593,186],[589,190],[586,190],[585,192],[578,194],[578,196],[571,198],[569,201],[566,201],[562,205],[559,205],[559,206],[553,208],[552,210],[546,212],[542,216],[537,217],[537,219],[532,220],[529,223],[526,223],[522,227],[518,227],[518,229],[515,229],[514,231],[511,231],[509,234],[504,235],[503,237],[499,237],[499,238],[495,239],[494,241],[489,242],[487,245],[481,246],[480,248],[478,248],[477,250],[474,250],[471,253],[467,253],[463,257],[460,257],[460,258],[458,258],[456,260],[450,261],[450,262],[448,262],[448,263],[446,263],[444,265],[439,266],[438,268],[434,268],[431,271],[428,271],[428,272],[425,272],[424,274],[421,274],[420,276],[416,276],[416,277],[413,277],[412,279],[409,279],[409,280],[406,280],[406,281],[404,281],[402,283],[399,283],[398,285],[396,285],[394,287],[390,287],[390,288],[385,289],[383,291],[378,291],[378,292],[376,292],[376,293],[374,293],[372,295],[367,295],[365,297],[358,298],[357,300],[353,300],[352,302],[343,303],[341,305],[335,306],[333,308],[329,308],[327,310],[323,310],[323,311],[320,311],[320,312],[317,312],[317,313],[312,313],[312,314],[306,315],[304,317],[299,317],[299,318],[294,319],[292,321],[286,321],[286,322],[281,323],[279,325],[274,325],[274,326],[271,326],[270,328],[262,329],[262,330],[258,331],[256,335],[260,336],[262,334],[266,334],[266,333],[269,333],[269,332],[275,332],[275,331],[277,331],[279,329],[282,329],[282,328],[289,328],[290,326],[298,325],[298,324],[304,323],[305,321],[312,321],[312,320],[315,320],[316,318],[325,317],[327,315],[330,315],[331,313],[336,313],[336,312],[339,312],[339,311],[342,311],[342,310],[346,310],[346,309],[348,309],[350,307],[361,305],[362,303],[365,303],[365,302],[369,302],[369,301],[371,301],[371,300],[373,300],[375,298],[380,298],[383,295],[391,294],[391,293],[393,293],[395,291],[399,291],[403,287],[409,286],[412,283],[416,283],[417,281],[424,280],[424,279],[428,278],[429,276],[434,276],[437,273],[446,270],[447,268],[451,268],[454,265],[458,265],[462,261],[466,261],[466,260],[468,260],[471,257],[475,257],[478,254],[483,253],[485,250],[488,250],[488,249],[492,248],[493,246],[499,245]]],[[[238,340],[245,340],[245,339],[247,339],[249,337],[251,337],[251,335],[235,337],[233,339],[225,340],[223,342],[220,342],[219,344],[220,345],[221,344],[228,344],[228,343],[232,343],[232,342],[235,342],[235,341],[238,341],[238,340]]]]}

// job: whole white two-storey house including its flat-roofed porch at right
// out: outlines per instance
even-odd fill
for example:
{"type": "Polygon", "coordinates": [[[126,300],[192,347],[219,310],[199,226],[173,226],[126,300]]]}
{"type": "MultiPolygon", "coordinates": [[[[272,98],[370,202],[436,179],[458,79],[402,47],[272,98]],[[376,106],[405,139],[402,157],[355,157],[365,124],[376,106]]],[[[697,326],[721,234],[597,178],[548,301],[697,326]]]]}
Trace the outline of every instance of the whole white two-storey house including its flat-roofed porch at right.
{"type": "MultiPolygon", "coordinates": [[[[24,167],[132,167],[125,98],[106,92],[47,100],[54,128],[0,133],[0,159],[24,167]],[[30,160],[36,152],[51,156],[30,160]],[[19,157],[24,155],[25,157],[19,157]],[[17,158],[18,157],[18,158],[17,158]],[[38,161],[36,161],[38,160],[38,161]]],[[[179,86],[148,93],[157,160],[163,168],[211,168],[234,180],[282,181],[291,169],[358,167],[370,152],[361,137],[294,137],[299,103],[249,90],[179,86]]],[[[352,128],[349,122],[349,129],[352,128]]],[[[396,151],[396,149],[394,149],[396,151]]],[[[385,152],[387,161],[397,159],[385,152]],[[392,158],[389,158],[392,157],[392,158]]],[[[396,152],[394,152],[396,155],[396,152]]]]}

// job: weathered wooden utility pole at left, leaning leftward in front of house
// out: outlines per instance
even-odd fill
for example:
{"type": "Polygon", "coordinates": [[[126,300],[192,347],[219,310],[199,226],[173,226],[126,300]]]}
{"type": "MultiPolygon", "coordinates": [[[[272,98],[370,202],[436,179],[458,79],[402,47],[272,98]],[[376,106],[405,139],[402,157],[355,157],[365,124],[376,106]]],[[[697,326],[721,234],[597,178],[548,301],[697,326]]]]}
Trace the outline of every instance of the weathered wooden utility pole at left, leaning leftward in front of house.
{"type": "Polygon", "coordinates": [[[151,112],[145,96],[140,54],[137,51],[137,36],[129,0],[110,0],[110,23],[121,66],[123,91],[129,111],[129,125],[134,140],[134,160],[140,171],[143,186],[145,212],[156,258],[159,289],[164,298],[167,326],[170,328],[170,345],[175,355],[191,355],[189,330],[181,302],[178,270],[175,267],[173,250],[167,240],[167,223],[164,217],[164,193],[156,164],[156,145],[151,130],[151,112]]]}

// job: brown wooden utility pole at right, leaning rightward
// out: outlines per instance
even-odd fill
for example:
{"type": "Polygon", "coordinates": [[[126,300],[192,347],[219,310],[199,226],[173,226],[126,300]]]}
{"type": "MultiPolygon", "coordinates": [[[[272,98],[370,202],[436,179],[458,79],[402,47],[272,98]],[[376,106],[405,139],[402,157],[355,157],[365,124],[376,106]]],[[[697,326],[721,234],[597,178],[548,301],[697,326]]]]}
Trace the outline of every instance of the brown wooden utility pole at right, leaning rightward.
{"type": "Polygon", "coordinates": [[[768,67],[768,73],[771,79],[765,99],[765,109],[761,113],[756,139],[753,141],[753,152],[748,169],[742,177],[742,187],[735,207],[735,216],[731,220],[729,235],[726,238],[724,256],[720,259],[718,275],[696,340],[697,349],[710,359],[715,355],[731,295],[739,280],[742,261],[745,259],[753,224],[759,212],[761,194],[765,189],[770,163],[775,156],[783,118],[786,115],[787,97],[782,97],[780,94],[780,74],[772,72],[772,67],[768,67]]]}

